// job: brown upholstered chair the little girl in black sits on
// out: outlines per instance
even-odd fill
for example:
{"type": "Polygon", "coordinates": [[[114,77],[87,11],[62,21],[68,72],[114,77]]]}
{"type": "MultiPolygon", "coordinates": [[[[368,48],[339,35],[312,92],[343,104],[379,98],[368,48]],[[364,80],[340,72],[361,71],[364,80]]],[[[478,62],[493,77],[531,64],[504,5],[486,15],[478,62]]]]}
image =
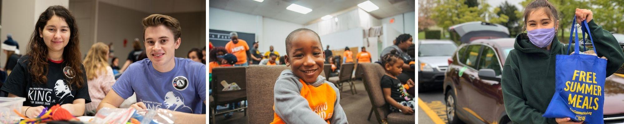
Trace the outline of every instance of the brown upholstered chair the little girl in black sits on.
{"type": "Polygon", "coordinates": [[[379,123],[415,123],[415,115],[404,115],[403,113],[391,112],[384,94],[381,91],[381,77],[384,76],[384,68],[378,63],[361,63],[359,67],[362,69],[364,87],[371,99],[373,111],[379,123]]]}

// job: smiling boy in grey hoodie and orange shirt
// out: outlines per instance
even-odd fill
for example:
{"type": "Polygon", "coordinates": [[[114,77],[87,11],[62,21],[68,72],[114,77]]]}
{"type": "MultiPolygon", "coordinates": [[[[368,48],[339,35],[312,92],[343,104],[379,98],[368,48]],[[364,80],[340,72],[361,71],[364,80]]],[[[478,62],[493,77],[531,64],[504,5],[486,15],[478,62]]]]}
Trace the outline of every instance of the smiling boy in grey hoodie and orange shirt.
{"type": "Polygon", "coordinates": [[[286,69],[273,87],[272,123],[347,123],[340,92],[319,76],[325,61],[321,38],[310,29],[297,29],[286,37],[286,69]]]}

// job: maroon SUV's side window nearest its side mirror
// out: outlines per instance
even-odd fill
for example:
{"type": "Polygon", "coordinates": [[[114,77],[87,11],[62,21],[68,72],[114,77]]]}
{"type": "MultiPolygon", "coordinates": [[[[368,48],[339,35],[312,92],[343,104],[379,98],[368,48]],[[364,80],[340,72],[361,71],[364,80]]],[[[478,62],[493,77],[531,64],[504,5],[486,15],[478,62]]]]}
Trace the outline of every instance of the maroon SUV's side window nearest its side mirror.
{"type": "Polygon", "coordinates": [[[485,47],[480,59],[479,69],[494,69],[496,76],[500,75],[499,58],[497,58],[496,52],[492,48],[485,47]]]}

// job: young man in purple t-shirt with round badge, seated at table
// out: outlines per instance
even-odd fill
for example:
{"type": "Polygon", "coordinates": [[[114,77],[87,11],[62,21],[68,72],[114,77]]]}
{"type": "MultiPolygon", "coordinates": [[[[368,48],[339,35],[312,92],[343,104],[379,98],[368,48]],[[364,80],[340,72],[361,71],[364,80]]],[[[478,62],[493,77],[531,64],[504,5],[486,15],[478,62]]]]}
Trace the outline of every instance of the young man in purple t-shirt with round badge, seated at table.
{"type": "Polygon", "coordinates": [[[130,64],[117,79],[97,110],[117,108],[137,94],[137,109],[172,110],[175,123],[206,123],[202,105],[206,103],[206,66],[189,59],[175,58],[182,42],[180,22],[160,14],[145,17],[146,60],[130,64]]]}

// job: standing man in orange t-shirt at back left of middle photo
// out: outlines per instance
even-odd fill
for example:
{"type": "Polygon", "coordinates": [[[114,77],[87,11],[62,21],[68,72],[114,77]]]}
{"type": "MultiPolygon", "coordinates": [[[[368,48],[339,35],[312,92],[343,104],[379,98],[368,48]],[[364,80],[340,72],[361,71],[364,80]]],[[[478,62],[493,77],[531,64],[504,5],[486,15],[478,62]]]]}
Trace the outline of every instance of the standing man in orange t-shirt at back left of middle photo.
{"type": "Polygon", "coordinates": [[[249,53],[249,45],[247,42],[242,39],[238,39],[238,33],[230,32],[230,42],[225,44],[225,50],[228,50],[228,53],[232,53],[236,56],[236,60],[238,60],[234,66],[247,66],[247,56],[251,55],[249,53]]]}

